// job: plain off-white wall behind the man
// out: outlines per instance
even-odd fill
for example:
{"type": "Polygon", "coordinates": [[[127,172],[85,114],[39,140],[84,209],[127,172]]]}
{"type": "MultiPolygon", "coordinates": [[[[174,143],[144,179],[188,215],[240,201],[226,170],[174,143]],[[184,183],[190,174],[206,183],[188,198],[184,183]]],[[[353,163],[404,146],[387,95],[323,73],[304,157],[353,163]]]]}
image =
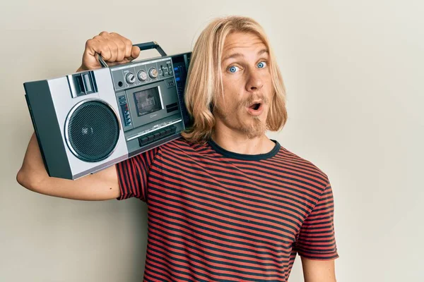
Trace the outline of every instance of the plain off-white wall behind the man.
{"type": "Polygon", "coordinates": [[[16,183],[33,133],[23,82],[75,72],[102,30],[177,54],[232,14],[264,26],[283,73],[288,123],[269,136],[330,178],[338,281],[424,281],[424,4],[400,0],[1,1],[0,281],[141,281],[146,251],[140,200],[16,183]]]}

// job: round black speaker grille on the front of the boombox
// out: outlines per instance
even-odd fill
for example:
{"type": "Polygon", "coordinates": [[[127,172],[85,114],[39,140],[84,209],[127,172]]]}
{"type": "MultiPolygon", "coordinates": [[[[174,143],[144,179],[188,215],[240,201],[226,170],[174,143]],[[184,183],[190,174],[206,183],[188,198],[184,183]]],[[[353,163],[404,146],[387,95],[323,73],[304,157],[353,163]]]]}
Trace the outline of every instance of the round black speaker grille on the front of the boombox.
{"type": "Polygon", "coordinates": [[[84,102],[69,117],[68,139],[78,159],[92,162],[106,159],[119,139],[117,116],[103,102],[84,102]]]}

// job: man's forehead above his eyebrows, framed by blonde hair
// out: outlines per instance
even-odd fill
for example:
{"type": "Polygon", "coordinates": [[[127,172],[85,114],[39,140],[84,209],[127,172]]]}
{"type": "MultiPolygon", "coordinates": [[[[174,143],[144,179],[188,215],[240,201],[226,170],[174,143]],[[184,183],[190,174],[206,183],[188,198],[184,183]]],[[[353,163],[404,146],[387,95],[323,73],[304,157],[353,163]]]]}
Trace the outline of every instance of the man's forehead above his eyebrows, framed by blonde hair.
{"type": "Polygon", "coordinates": [[[252,32],[234,32],[225,38],[223,57],[231,53],[256,51],[257,49],[266,49],[266,45],[258,35],[252,32]]]}

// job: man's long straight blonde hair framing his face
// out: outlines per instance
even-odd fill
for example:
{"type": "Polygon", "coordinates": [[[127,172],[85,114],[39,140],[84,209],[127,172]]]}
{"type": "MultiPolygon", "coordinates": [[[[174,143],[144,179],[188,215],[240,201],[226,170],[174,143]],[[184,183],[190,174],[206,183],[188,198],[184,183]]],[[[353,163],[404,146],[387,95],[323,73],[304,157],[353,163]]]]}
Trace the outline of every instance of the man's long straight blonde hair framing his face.
{"type": "Polygon", "coordinates": [[[216,104],[217,95],[223,94],[221,56],[225,38],[233,32],[254,33],[268,48],[274,92],[266,118],[266,128],[278,131],[287,121],[283,78],[261,25],[252,18],[241,16],[217,18],[201,32],[192,51],[184,102],[193,118],[193,125],[182,133],[186,140],[205,142],[211,137],[216,122],[213,105],[216,104]]]}

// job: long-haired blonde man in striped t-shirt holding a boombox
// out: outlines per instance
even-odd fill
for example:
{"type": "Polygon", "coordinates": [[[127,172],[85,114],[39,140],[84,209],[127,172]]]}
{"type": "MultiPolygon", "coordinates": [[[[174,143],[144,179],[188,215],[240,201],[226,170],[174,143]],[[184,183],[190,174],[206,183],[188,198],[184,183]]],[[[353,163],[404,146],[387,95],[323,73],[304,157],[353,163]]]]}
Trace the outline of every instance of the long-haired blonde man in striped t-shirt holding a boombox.
{"type": "MultiPolygon", "coordinates": [[[[114,33],[89,39],[78,71],[131,61],[114,33]]],[[[266,137],[286,120],[269,41],[250,18],[220,18],[196,42],[183,137],[78,180],[49,178],[36,138],[17,180],[77,200],[148,204],[145,281],[288,281],[297,253],[307,282],[334,282],[334,204],[326,174],[266,137]]]]}

